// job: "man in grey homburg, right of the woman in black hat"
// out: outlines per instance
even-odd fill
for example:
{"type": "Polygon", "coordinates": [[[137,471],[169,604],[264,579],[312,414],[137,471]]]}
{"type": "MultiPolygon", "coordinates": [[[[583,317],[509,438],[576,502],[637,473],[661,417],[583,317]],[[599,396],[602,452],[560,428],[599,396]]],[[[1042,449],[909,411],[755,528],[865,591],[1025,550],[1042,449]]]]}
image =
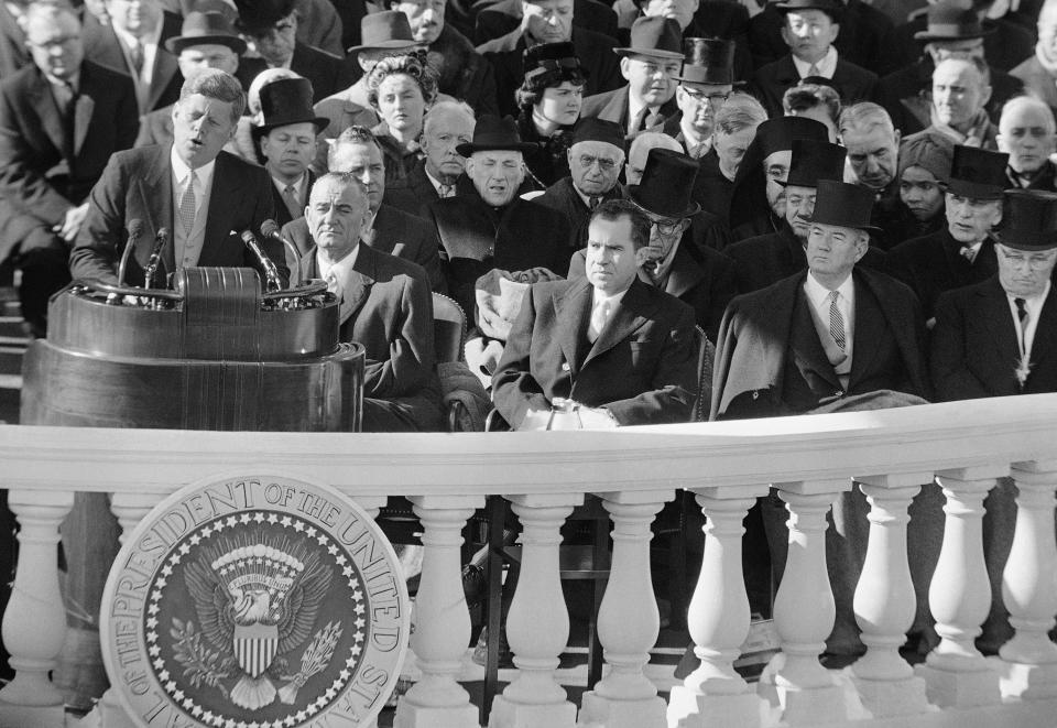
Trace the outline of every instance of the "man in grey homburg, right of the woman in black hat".
{"type": "Polygon", "coordinates": [[[671,18],[640,18],[631,28],[631,45],[614,48],[625,86],[584,99],[581,118],[615,121],[628,137],[658,131],[678,106],[675,77],[683,67],[679,23],[671,18]]]}

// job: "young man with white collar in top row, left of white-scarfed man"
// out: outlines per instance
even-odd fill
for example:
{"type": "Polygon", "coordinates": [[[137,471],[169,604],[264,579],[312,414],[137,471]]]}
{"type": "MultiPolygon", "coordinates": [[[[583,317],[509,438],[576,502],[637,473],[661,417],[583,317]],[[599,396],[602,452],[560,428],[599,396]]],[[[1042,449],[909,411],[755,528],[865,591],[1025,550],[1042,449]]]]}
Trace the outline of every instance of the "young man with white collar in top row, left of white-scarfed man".
{"type": "Polygon", "coordinates": [[[876,74],[839,57],[833,47],[840,32],[839,0],[788,0],[776,7],[785,13],[782,37],[789,54],[761,66],[752,77],[756,96],[772,118],[782,116],[786,89],[810,76],[828,79],[844,104],[873,98],[876,74]]]}

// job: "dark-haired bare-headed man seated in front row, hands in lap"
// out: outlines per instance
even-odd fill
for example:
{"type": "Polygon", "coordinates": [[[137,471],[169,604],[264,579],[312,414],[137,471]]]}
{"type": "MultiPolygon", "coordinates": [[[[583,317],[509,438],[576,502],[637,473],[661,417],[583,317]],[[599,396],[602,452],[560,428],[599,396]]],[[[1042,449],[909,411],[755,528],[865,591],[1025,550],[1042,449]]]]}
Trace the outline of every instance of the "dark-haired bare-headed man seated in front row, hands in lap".
{"type": "Polygon", "coordinates": [[[515,430],[544,430],[558,398],[584,427],[686,422],[697,392],[694,312],[638,275],[650,219],[630,200],[591,215],[587,275],[533,285],[492,378],[515,430]]]}

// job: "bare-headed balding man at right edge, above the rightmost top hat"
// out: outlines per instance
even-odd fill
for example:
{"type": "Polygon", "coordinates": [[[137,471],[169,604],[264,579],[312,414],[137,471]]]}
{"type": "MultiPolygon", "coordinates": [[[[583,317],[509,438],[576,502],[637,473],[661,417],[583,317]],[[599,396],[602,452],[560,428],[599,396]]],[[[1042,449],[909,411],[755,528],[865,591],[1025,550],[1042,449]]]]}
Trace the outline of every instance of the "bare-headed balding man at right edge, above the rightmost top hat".
{"type": "Polygon", "coordinates": [[[1053,110],[1031,96],[1011,99],[999,119],[999,151],[1010,155],[1006,169],[1012,187],[1057,191],[1057,166],[1050,155],[1057,146],[1053,110]]]}

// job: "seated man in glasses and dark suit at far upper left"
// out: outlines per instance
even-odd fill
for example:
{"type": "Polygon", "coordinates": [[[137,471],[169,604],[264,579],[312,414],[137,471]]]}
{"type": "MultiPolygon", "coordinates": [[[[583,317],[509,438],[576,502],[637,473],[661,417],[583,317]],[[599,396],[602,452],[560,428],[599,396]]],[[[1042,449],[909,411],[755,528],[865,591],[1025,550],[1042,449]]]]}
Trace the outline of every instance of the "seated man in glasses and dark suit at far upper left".
{"type": "Polygon", "coordinates": [[[34,6],[25,23],[33,64],[0,84],[0,261],[22,271],[22,316],[43,336],[88,192],[132,145],[139,111],[128,77],[85,59],[72,10],[34,6]]]}

